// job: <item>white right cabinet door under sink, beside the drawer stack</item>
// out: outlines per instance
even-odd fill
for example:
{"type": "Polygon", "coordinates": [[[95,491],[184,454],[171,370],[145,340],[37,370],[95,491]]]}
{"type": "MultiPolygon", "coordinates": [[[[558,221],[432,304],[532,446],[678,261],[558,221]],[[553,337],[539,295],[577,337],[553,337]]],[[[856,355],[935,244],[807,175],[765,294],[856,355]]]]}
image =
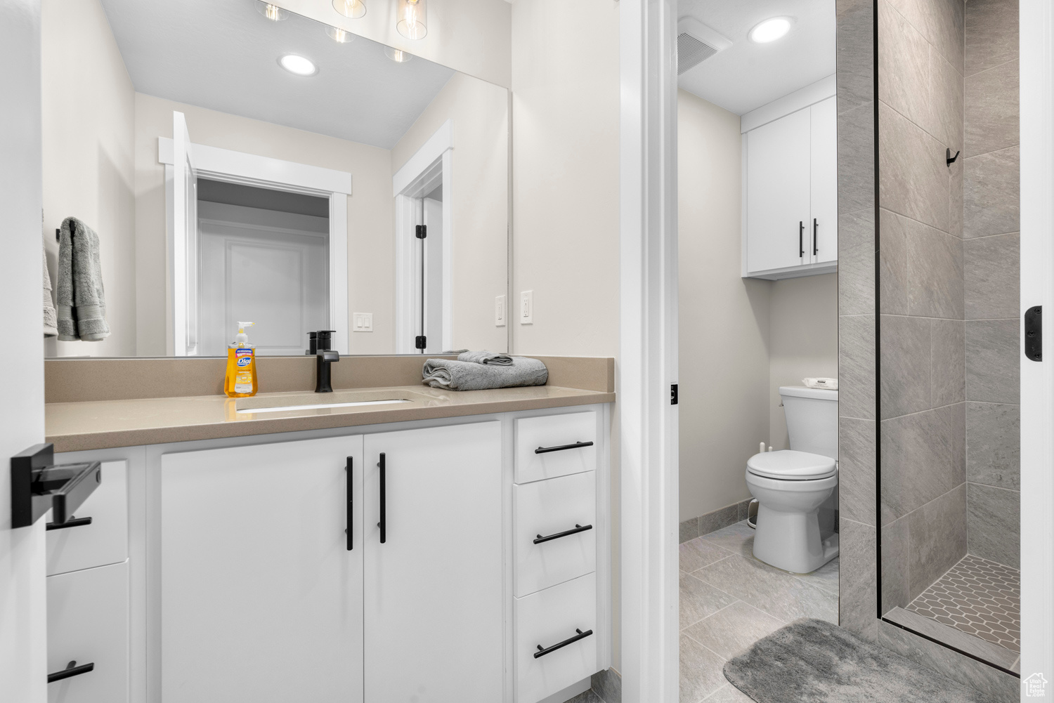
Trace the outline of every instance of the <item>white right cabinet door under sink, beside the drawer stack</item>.
{"type": "Polygon", "coordinates": [[[364,445],[367,703],[501,701],[501,424],[368,434],[364,445]]]}

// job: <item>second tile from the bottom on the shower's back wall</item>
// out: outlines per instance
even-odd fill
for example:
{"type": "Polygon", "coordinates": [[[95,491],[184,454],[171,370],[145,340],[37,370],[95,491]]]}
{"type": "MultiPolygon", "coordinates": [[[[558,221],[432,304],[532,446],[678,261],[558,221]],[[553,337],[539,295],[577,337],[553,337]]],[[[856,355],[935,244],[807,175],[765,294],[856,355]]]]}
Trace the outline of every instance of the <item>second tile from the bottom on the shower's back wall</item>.
{"type": "Polygon", "coordinates": [[[997,488],[1020,489],[1020,406],[967,404],[967,480],[997,488]]]}

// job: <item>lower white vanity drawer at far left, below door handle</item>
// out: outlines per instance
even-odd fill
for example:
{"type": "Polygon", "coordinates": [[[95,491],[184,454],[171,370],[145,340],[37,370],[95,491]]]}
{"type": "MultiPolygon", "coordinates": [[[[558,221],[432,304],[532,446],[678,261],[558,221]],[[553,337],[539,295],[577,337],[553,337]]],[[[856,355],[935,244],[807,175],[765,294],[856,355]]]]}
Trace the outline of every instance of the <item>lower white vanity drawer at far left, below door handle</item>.
{"type": "Polygon", "coordinates": [[[129,565],[47,577],[47,672],[94,664],[47,684],[48,703],[128,703],[129,565]]]}

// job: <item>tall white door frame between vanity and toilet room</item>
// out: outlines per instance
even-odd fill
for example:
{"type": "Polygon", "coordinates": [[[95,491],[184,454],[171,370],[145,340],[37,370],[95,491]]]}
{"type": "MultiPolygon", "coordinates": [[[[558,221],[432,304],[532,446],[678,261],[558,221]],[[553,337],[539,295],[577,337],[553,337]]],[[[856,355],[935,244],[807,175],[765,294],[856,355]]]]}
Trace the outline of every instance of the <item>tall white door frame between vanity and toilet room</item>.
{"type": "Polygon", "coordinates": [[[619,13],[622,700],[677,703],[677,0],[619,13]]]}

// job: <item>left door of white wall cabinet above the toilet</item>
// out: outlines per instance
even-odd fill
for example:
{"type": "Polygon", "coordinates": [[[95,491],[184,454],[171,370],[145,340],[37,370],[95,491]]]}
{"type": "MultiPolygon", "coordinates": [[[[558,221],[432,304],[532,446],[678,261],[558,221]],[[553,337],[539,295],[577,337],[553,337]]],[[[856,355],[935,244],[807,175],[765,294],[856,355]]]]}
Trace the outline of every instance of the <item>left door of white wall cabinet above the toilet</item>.
{"type": "Polygon", "coordinates": [[[746,271],[808,263],[811,112],[746,133],[746,271]]]}

